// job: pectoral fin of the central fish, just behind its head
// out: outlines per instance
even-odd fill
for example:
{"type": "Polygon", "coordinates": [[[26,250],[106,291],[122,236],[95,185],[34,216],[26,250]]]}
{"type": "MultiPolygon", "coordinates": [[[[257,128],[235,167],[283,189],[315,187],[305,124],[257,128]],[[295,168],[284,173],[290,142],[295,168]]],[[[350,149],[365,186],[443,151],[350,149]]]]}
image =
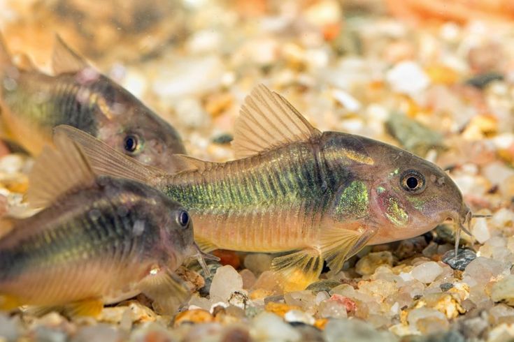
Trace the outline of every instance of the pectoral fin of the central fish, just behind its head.
{"type": "Polygon", "coordinates": [[[348,230],[338,227],[323,231],[322,251],[331,270],[338,271],[343,268],[345,260],[359,252],[366,243],[376,234],[372,228],[348,230]]]}

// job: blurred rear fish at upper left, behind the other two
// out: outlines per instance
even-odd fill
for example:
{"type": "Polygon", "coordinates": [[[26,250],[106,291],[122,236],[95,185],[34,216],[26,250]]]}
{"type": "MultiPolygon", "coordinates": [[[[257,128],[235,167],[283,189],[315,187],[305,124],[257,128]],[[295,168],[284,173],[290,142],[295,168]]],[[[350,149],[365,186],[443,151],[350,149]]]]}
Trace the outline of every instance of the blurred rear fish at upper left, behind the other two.
{"type": "Polygon", "coordinates": [[[169,154],[185,154],[173,126],[119,84],[102,75],[56,36],[55,75],[24,55],[13,62],[0,36],[0,108],[3,138],[37,156],[52,143],[52,128],[83,130],[141,163],[169,170],[169,154]]]}

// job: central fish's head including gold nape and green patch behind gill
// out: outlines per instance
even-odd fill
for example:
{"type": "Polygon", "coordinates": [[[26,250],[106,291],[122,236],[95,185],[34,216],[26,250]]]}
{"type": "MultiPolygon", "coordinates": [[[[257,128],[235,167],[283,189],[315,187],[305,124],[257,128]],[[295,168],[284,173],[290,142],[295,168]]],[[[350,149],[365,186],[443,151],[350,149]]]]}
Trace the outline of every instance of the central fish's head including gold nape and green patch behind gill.
{"type": "Polygon", "coordinates": [[[471,219],[457,184],[434,163],[358,135],[327,132],[321,142],[325,165],[338,174],[336,214],[373,226],[371,244],[421,235],[448,218],[471,219]]]}

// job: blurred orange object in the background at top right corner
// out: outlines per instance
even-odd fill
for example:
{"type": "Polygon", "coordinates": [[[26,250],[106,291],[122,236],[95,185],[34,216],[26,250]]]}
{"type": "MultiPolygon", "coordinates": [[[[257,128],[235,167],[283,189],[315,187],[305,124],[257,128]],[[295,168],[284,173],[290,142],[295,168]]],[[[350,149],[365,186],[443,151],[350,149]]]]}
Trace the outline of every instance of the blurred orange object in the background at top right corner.
{"type": "Polygon", "coordinates": [[[416,23],[514,20],[513,0],[385,0],[392,15],[416,23]]]}

